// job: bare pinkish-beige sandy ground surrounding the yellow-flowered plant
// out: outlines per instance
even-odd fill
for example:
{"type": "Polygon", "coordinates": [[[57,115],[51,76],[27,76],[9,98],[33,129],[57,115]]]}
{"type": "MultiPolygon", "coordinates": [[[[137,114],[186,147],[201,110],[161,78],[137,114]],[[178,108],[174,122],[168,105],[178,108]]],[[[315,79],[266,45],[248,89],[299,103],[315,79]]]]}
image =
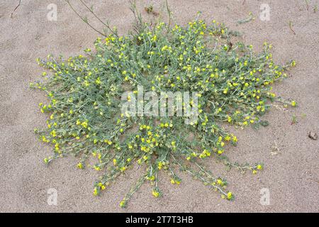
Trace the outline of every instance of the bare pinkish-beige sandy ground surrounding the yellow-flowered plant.
{"type": "MultiPolygon", "coordinates": [[[[87,2],[87,1],[86,1],[87,2]]],[[[140,8],[152,2],[159,9],[160,2],[142,1],[140,8]]],[[[93,47],[98,34],[91,31],[62,0],[22,0],[21,6],[10,18],[18,0],[0,0],[0,211],[23,212],[318,212],[319,211],[319,140],[310,140],[308,131],[319,134],[319,12],[310,1],[169,1],[179,23],[203,12],[206,20],[225,22],[230,28],[244,33],[245,43],[260,49],[267,40],[274,45],[276,62],[296,60],[297,66],[284,82],[274,87],[277,94],[298,101],[298,108],[282,111],[273,108],[264,118],[270,126],[254,131],[234,131],[239,139],[228,155],[238,162],[264,162],[265,169],[257,175],[242,175],[236,170],[226,172],[223,165],[212,159],[211,169],[224,175],[235,201],[220,199],[220,195],[191,177],[183,175],[179,187],[172,185],[166,175],[160,181],[164,196],[152,197],[151,188],[144,184],[133,196],[128,209],[120,209],[125,192],[139,175],[134,167],[120,177],[99,197],[92,195],[97,175],[91,170],[77,170],[77,160],[63,158],[45,167],[43,158],[50,147],[40,143],[33,128],[45,126],[38,103],[45,96],[28,89],[28,83],[40,76],[42,69],[36,57],[48,53],[77,55],[84,48],[93,47]],[[57,5],[57,21],[47,20],[47,5],[57,5]],[[259,20],[259,6],[271,7],[270,21],[259,20]],[[252,11],[254,21],[236,26],[236,21],[252,11]],[[293,35],[289,29],[293,22],[293,35]],[[301,117],[306,114],[306,117],[301,117]],[[292,116],[298,123],[291,125],[292,116]],[[279,152],[272,155],[272,146],[279,152]],[[57,189],[57,206],[47,204],[47,190],[57,189]],[[260,204],[260,190],[269,189],[270,204],[260,204]]],[[[96,12],[118,26],[121,33],[131,28],[133,16],[129,4],[121,1],[94,1],[96,12]]],[[[79,6],[79,4],[75,4],[79,6]]],[[[79,9],[79,8],[77,8],[79,9]]],[[[84,12],[84,11],[83,11],[84,12]]],[[[145,12],[144,12],[145,14],[145,12]]],[[[98,23],[94,23],[99,26],[98,23]]]]}

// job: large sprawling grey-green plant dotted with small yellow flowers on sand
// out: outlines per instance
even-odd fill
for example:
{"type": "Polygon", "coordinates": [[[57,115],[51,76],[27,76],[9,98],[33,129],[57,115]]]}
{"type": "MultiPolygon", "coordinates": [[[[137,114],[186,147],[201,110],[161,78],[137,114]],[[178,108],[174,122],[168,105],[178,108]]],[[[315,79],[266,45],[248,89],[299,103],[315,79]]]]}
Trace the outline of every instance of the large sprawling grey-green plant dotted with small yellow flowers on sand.
{"type": "MultiPolygon", "coordinates": [[[[271,45],[264,43],[262,52],[252,46],[232,43],[237,33],[223,24],[209,25],[196,19],[187,26],[140,21],[135,31],[120,36],[112,31],[98,38],[95,51],[85,55],[57,59],[38,59],[42,82],[30,84],[46,92],[49,104],[40,103],[48,113],[47,128],[35,129],[41,140],[54,146],[49,163],[58,157],[74,155],[77,167],[88,165],[96,157],[95,170],[101,178],[94,184],[99,195],[111,182],[138,163],[145,173],[121,201],[124,207],[134,192],[148,181],[152,194],[161,195],[158,172],[167,172],[172,184],[180,184],[177,170],[186,172],[233,199],[227,181],[204,166],[208,157],[216,157],[227,167],[262,170],[262,164],[240,165],[225,156],[225,145],[237,138],[223,129],[223,123],[245,127],[267,125],[260,117],[270,101],[296,106],[294,101],[279,99],[272,84],[286,77],[290,62],[274,64],[271,45]],[[185,124],[186,116],[131,116],[121,111],[125,91],[138,93],[138,86],[154,92],[198,92],[198,119],[185,124]]],[[[130,101],[130,97],[127,97],[130,101]]],[[[186,105],[183,103],[183,109],[186,105]]],[[[176,111],[176,110],[175,110],[176,111]]]]}

